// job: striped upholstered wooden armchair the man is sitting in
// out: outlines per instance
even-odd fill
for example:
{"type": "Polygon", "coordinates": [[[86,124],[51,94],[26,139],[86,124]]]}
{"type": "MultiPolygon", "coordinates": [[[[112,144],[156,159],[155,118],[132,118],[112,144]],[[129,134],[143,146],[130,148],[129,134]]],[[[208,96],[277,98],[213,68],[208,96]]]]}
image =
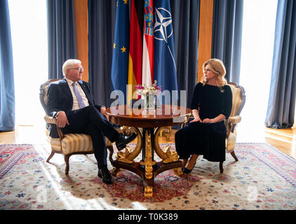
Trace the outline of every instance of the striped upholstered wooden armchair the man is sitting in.
{"type": "MultiPolygon", "coordinates": [[[[60,79],[50,79],[40,86],[39,97],[44,111],[46,111],[48,84],[57,80],[60,79]]],[[[51,144],[51,155],[49,155],[46,162],[49,162],[55,153],[64,155],[66,163],[65,174],[69,174],[69,158],[71,155],[93,153],[93,143],[90,139],[90,136],[88,134],[62,134],[60,127],[56,125],[56,118],[46,115],[44,119],[46,121],[46,127],[49,127],[49,125],[55,125],[58,130],[58,138],[52,138],[49,136],[48,128],[46,128],[46,135],[48,137],[49,143],[51,144]]],[[[109,151],[113,151],[112,143],[107,138],[106,146],[109,151]]]]}

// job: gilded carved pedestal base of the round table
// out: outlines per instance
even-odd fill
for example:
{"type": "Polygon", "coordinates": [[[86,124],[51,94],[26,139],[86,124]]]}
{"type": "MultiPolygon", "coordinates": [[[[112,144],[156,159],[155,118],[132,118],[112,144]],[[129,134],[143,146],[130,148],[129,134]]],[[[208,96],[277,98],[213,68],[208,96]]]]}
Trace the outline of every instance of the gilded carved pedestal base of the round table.
{"type": "Polygon", "coordinates": [[[128,146],[126,150],[119,151],[116,156],[116,160],[113,160],[113,148],[109,148],[109,160],[113,167],[113,176],[117,176],[120,169],[127,169],[139,175],[143,181],[144,197],[151,198],[153,196],[153,186],[155,177],[165,172],[168,169],[175,169],[174,172],[177,175],[182,175],[182,162],[179,160],[177,152],[170,151],[170,146],[166,146],[163,150],[159,146],[159,133],[165,131],[163,136],[170,136],[170,127],[158,127],[143,128],[141,132],[137,127],[124,127],[123,134],[131,134],[135,132],[137,134],[137,146],[134,150],[131,150],[128,146]],[[160,162],[154,160],[155,153],[161,158],[160,162]],[[142,160],[135,162],[135,158],[142,151],[142,160]]]}

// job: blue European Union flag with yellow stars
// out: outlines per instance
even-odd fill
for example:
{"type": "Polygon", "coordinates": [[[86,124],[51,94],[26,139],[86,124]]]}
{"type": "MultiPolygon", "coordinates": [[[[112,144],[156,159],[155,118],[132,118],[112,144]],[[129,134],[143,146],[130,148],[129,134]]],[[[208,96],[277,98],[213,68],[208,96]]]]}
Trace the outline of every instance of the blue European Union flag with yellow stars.
{"type": "Polygon", "coordinates": [[[128,0],[117,1],[111,78],[114,90],[121,90],[123,94],[126,94],[126,84],[128,83],[128,54],[130,43],[128,9],[128,0]]]}

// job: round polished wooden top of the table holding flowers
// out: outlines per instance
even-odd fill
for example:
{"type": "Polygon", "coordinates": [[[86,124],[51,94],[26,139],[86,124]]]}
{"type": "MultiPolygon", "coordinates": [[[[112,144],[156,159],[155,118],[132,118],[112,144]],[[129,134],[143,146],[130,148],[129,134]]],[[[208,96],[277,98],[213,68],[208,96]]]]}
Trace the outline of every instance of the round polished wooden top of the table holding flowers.
{"type": "Polygon", "coordinates": [[[188,120],[191,109],[183,106],[162,105],[154,111],[133,109],[128,105],[113,106],[106,110],[109,121],[129,127],[163,127],[180,125],[188,120]]]}

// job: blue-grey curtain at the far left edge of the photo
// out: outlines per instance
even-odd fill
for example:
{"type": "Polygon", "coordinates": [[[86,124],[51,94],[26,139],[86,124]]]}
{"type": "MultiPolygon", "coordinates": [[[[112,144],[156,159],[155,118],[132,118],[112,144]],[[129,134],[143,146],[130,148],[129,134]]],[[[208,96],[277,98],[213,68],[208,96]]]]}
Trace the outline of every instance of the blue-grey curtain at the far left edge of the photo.
{"type": "Polygon", "coordinates": [[[15,128],[13,49],[8,1],[0,1],[0,132],[15,128]]]}

